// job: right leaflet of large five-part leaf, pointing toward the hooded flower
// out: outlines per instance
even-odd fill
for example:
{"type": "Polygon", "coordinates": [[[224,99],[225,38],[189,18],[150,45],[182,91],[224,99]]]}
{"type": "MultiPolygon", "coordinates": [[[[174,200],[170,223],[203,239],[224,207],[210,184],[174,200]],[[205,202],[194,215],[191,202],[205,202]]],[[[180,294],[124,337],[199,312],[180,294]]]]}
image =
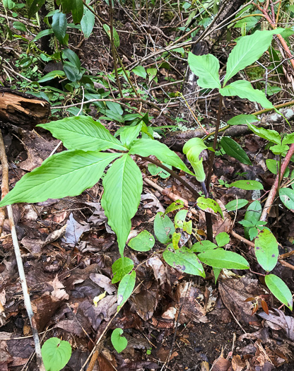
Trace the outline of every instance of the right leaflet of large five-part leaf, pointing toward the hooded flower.
{"type": "Polygon", "coordinates": [[[170,148],[159,141],[153,141],[152,139],[136,139],[133,141],[129,153],[131,155],[139,155],[148,157],[154,155],[158,160],[167,163],[168,165],[177,167],[177,169],[183,170],[190,175],[194,175],[186,165],[182,162],[180,157],[171,151],[170,148]]]}

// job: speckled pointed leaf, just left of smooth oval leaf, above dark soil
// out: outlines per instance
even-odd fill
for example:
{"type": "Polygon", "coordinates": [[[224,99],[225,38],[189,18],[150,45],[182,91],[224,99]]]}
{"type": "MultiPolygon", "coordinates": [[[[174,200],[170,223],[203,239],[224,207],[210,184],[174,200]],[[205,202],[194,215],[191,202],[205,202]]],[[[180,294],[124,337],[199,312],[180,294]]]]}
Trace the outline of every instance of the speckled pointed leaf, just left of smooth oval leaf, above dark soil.
{"type": "Polygon", "coordinates": [[[173,268],[183,273],[193,274],[194,276],[205,277],[204,268],[193,252],[187,247],[182,249],[166,249],[163,252],[163,259],[173,268]]]}

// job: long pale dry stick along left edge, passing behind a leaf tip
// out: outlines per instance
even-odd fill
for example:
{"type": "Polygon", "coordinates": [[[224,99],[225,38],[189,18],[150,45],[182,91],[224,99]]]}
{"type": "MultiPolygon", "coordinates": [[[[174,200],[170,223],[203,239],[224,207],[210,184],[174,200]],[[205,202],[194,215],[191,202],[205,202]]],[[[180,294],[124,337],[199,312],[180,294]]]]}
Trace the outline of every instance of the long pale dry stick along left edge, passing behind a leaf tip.
{"type": "MultiPolygon", "coordinates": [[[[7,192],[8,191],[8,162],[6,158],[4,140],[3,140],[1,131],[0,131],[0,157],[1,157],[2,171],[4,175],[2,178],[1,189],[4,189],[4,192],[8,193],[7,192]]],[[[4,196],[5,194],[2,194],[2,198],[4,196]]],[[[18,273],[19,273],[21,288],[23,290],[23,300],[25,302],[25,309],[28,312],[28,318],[30,319],[30,326],[32,327],[33,338],[35,341],[35,353],[36,353],[36,358],[37,358],[37,365],[40,371],[45,371],[45,367],[44,367],[44,364],[42,361],[42,355],[41,355],[40,339],[37,333],[37,326],[36,326],[36,322],[34,318],[32,305],[30,303],[30,294],[28,293],[28,285],[25,279],[23,261],[21,259],[20,248],[18,245],[18,236],[16,235],[16,226],[14,225],[12,206],[8,205],[6,207],[8,211],[8,219],[9,219],[10,228],[11,228],[11,236],[12,236],[12,241],[13,241],[14,253],[16,254],[16,263],[18,265],[18,273]]]]}

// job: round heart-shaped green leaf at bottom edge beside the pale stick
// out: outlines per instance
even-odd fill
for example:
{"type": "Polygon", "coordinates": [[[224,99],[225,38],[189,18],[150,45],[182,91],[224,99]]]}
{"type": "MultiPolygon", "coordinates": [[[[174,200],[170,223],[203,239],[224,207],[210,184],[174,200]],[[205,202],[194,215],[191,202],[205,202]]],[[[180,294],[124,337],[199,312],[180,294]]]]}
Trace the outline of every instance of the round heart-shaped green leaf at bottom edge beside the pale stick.
{"type": "Polygon", "coordinates": [[[71,344],[60,338],[49,338],[41,349],[46,371],[59,371],[71,358],[71,344]]]}

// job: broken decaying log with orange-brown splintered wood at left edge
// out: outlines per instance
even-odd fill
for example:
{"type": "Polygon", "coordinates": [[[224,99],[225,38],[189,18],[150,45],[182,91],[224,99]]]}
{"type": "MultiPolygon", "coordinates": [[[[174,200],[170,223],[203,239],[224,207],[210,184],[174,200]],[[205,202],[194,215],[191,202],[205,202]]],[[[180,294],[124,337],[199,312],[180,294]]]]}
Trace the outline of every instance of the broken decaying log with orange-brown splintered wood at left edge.
{"type": "Polygon", "coordinates": [[[47,122],[50,105],[35,95],[0,88],[0,120],[11,124],[40,124],[47,122]]]}

